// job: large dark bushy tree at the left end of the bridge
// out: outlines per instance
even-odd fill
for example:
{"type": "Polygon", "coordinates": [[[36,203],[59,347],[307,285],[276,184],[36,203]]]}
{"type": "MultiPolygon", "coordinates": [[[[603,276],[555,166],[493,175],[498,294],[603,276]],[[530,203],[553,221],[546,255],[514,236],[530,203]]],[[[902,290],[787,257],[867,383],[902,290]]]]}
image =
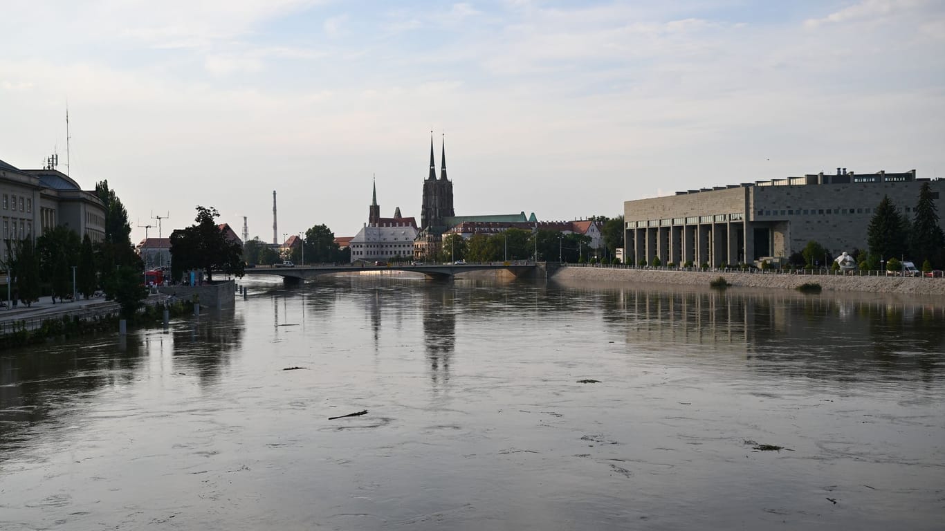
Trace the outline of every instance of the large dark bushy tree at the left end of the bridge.
{"type": "Polygon", "coordinates": [[[242,277],[245,269],[243,249],[227,240],[215,222],[219,213],[213,207],[197,207],[197,225],[171,233],[171,275],[179,279],[184,271],[203,269],[208,281],[214,271],[242,277]]]}

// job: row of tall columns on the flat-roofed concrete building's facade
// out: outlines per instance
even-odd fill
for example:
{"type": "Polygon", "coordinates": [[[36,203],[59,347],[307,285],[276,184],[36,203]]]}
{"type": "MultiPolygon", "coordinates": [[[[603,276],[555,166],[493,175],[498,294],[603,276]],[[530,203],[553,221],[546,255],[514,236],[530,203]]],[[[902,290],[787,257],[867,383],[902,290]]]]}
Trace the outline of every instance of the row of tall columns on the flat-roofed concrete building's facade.
{"type": "Polygon", "coordinates": [[[744,222],[627,229],[627,253],[632,264],[644,259],[649,265],[657,256],[663,266],[739,264],[748,254],[745,234],[744,222]]]}

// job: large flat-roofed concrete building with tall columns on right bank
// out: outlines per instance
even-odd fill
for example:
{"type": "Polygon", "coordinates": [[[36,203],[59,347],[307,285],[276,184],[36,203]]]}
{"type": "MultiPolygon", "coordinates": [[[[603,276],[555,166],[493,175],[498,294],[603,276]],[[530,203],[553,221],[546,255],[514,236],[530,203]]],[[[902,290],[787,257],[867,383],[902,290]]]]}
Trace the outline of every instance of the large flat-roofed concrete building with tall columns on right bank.
{"type": "MultiPolygon", "coordinates": [[[[651,264],[659,257],[663,265],[691,261],[719,266],[786,259],[812,240],[834,255],[867,248],[869,221],[883,197],[911,220],[922,181],[915,170],[854,174],[837,168],[835,175],[760,180],[625,201],[625,256],[632,264],[651,264]]],[[[945,180],[930,184],[941,213],[945,180]]]]}

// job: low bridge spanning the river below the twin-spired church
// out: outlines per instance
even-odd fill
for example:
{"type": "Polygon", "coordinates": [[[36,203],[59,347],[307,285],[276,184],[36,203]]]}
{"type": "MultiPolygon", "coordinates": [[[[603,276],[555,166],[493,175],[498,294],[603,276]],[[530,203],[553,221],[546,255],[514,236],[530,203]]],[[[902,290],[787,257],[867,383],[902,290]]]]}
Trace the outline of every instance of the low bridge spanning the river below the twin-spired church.
{"type": "Polygon", "coordinates": [[[487,264],[430,264],[430,265],[409,265],[409,264],[390,264],[388,266],[371,266],[368,264],[341,264],[326,265],[318,264],[316,266],[256,266],[247,267],[245,275],[247,277],[258,277],[261,275],[276,275],[283,277],[287,282],[304,281],[314,279],[320,275],[333,275],[339,273],[361,273],[367,271],[410,271],[413,273],[422,273],[431,279],[453,280],[456,275],[468,273],[471,271],[487,271],[505,269],[516,277],[532,274],[538,269],[535,262],[515,261],[515,262],[490,262],[487,264]]]}

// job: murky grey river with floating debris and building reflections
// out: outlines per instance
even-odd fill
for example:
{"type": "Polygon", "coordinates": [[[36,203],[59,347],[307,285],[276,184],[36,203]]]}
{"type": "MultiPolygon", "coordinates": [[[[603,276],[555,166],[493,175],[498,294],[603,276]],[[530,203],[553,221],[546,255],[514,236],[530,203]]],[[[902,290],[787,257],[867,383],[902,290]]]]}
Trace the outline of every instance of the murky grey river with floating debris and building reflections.
{"type": "Polygon", "coordinates": [[[0,528],[945,522],[940,301],[248,285],[166,332],[0,354],[0,528]]]}

